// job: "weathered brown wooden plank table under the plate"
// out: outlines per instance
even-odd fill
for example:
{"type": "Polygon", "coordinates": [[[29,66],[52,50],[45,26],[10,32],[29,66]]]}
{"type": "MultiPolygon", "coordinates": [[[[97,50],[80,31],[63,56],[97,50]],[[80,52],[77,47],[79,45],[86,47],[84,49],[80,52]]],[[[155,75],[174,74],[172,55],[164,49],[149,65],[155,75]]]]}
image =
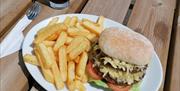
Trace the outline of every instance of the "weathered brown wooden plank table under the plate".
{"type": "MultiPolygon", "coordinates": [[[[0,1],[0,40],[3,40],[31,2],[30,0],[21,0],[18,3],[16,2],[19,0],[0,1]],[[14,12],[15,9],[18,9],[17,13],[14,12]]],[[[42,10],[39,16],[25,29],[24,34],[26,35],[32,26],[41,20],[54,15],[66,13],[103,15],[150,39],[163,66],[163,83],[160,91],[163,89],[179,91],[180,18],[178,22],[178,4],[178,0],[70,0],[70,6],[62,10],[54,10],[41,4],[42,10]]],[[[42,90],[27,72],[22,57],[19,56],[20,53],[21,51],[1,59],[0,90],[24,91],[31,89],[32,85],[42,90]]]]}

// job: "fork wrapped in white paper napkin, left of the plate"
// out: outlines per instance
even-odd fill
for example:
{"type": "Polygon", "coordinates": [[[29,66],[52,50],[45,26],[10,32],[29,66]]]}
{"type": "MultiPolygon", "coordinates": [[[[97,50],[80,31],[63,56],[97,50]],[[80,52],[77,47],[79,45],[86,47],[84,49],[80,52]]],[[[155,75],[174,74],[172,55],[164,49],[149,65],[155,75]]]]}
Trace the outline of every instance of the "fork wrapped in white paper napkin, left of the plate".
{"type": "Polygon", "coordinates": [[[12,54],[21,49],[23,42],[23,30],[37,17],[41,10],[38,2],[34,1],[33,5],[26,11],[26,14],[18,21],[11,32],[0,43],[0,58],[12,54]]]}

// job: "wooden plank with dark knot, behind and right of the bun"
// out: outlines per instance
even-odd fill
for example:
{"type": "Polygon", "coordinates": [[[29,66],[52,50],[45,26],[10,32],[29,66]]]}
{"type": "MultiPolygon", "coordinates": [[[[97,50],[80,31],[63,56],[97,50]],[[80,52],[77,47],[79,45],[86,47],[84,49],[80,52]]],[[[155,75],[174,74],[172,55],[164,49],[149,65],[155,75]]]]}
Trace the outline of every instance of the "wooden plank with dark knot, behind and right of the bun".
{"type": "MultiPolygon", "coordinates": [[[[163,76],[171,37],[176,0],[136,0],[128,26],[151,40],[163,66],[163,76]]],[[[163,84],[160,89],[163,90],[163,84]]]]}

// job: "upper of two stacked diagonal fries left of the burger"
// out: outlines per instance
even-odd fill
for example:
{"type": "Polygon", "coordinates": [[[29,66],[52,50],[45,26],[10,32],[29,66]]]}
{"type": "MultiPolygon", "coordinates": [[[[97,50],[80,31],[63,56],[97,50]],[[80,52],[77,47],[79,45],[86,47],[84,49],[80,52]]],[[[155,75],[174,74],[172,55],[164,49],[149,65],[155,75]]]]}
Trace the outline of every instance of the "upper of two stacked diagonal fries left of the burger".
{"type": "Polygon", "coordinates": [[[83,40],[84,37],[82,36],[75,37],[67,47],[67,53],[70,53],[73,49],[77,48],[83,40]]]}

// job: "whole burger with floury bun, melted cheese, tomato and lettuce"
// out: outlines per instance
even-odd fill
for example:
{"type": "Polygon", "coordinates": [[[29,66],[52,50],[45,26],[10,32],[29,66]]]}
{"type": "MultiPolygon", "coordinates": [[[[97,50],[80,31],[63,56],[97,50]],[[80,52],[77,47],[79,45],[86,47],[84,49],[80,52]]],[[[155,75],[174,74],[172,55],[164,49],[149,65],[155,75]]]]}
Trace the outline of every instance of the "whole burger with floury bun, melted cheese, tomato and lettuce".
{"type": "Polygon", "coordinates": [[[153,51],[152,43],[141,34],[107,28],[89,53],[88,76],[96,85],[113,91],[129,91],[146,75],[153,51]]]}

